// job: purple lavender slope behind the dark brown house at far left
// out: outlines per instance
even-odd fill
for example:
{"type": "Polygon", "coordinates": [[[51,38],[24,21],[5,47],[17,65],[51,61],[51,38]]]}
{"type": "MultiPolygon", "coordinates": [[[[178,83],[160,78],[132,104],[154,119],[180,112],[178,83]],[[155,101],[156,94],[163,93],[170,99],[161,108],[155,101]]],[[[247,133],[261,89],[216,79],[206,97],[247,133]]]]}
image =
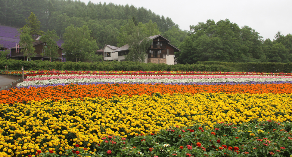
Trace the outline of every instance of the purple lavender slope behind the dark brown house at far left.
{"type": "MultiPolygon", "coordinates": [[[[15,47],[16,44],[19,43],[19,40],[19,33],[17,31],[17,28],[0,25],[0,44],[3,45],[2,47],[15,47]],[[18,36],[15,37],[16,35],[18,36]]],[[[60,39],[59,41],[57,41],[57,45],[61,46],[63,42],[64,41],[60,39]]]]}

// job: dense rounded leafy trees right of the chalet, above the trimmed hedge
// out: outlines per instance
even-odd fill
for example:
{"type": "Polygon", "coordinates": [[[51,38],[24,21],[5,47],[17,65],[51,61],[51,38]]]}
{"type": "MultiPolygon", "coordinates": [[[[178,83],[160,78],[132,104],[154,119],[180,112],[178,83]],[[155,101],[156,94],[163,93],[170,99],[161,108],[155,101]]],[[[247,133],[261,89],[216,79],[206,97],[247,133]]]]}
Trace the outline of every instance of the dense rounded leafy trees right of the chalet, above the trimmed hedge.
{"type": "Polygon", "coordinates": [[[239,28],[228,19],[207,20],[190,26],[190,31],[176,52],[181,64],[198,61],[219,62],[292,62],[292,35],[277,32],[275,40],[263,40],[249,26],[239,28]]]}

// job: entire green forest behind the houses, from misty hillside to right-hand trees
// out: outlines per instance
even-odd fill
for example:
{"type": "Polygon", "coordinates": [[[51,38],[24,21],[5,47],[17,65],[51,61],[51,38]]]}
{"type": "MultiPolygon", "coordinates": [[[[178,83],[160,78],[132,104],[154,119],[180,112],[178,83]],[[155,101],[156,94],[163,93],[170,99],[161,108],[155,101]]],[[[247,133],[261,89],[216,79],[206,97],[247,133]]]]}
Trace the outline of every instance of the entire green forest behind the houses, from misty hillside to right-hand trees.
{"type": "MultiPolygon", "coordinates": [[[[88,29],[90,38],[101,49],[105,44],[123,46],[126,36],[138,27],[145,36],[161,34],[178,47],[176,61],[192,64],[198,61],[220,62],[292,62],[292,35],[275,32],[275,39],[264,40],[249,26],[239,27],[228,19],[207,20],[181,30],[171,18],[157,15],[151,8],[134,5],[72,0],[0,0],[0,24],[21,28],[31,12],[41,30],[54,30],[66,41],[66,29],[88,29]],[[17,8],[17,9],[15,9],[17,8]],[[65,35],[65,36],[64,36],[65,35]],[[125,36],[126,35],[126,36],[125,36]]],[[[68,35],[68,33],[67,33],[68,35]]],[[[80,57],[79,57],[80,58],[80,57]]],[[[77,59],[75,59],[77,60],[77,59]]]]}

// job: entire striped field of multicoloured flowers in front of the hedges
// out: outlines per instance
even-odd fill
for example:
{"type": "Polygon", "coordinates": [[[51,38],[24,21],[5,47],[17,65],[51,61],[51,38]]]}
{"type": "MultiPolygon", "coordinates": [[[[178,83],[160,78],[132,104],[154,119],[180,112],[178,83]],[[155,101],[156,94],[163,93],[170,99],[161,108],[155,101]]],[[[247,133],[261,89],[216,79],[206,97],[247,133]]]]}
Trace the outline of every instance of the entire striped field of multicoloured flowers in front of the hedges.
{"type": "Polygon", "coordinates": [[[292,151],[291,74],[26,71],[26,76],[0,92],[0,156],[34,156],[37,150],[64,155],[76,144],[99,155],[106,148],[103,155],[111,156],[117,142],[131,146],[123,149],[125,156],[292,151]],[[153,143],[162,133],[173,140],[153,143]],[[273,142],[278,134],[281,142],[273,142]],[[137,140],[143,145],[134,150],[137,140]]]}

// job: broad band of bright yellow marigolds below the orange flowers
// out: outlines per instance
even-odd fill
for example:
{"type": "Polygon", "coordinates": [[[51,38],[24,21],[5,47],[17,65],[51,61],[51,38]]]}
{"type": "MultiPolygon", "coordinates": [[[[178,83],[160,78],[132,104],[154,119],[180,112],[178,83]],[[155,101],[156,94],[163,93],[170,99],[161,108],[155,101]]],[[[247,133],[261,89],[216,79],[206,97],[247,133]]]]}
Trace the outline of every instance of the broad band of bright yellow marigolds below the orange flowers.
{"type": "Polygon", "coordinates": [[[173,125],[292,121],[292,94],[156,93],[47,99],[0,108],[0,152],[26,156],[38,149],[62,154],[75,144],[93,150],[107,135],[133,137],[173,125]]]}

